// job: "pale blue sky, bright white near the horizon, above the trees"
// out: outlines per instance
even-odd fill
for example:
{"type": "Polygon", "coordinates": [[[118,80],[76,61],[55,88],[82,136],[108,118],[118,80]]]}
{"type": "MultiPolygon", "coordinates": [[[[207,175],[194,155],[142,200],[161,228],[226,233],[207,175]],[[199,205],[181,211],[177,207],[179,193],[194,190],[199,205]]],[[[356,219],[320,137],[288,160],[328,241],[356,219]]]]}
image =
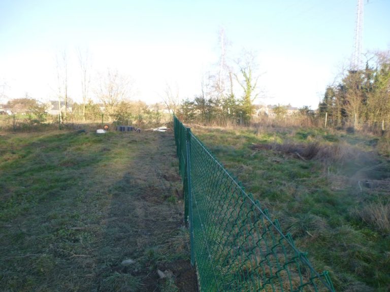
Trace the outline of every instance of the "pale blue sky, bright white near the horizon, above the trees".
{"type": "MultiPolygon", "coordinates": [[[[94,71],[131,75],[137,98],[152,102],[166,84],[182,98],[218,69],[218,30],[227,57],[256,54],[263,103],[315,108],[348,65],[356,0],[302,1],[0,1],[0,86],[9,98],[55,98],[55,55],[67,50],[70,93],[80,100],[76,48],[94,71]]],[[[365,1],[363,51],[390,49],[390,0],[365,1]]],[[[0,88],[1,90],[1,88],[0,88]]],[[[0,93],[2,93],[0,91],[0,93]]]]}

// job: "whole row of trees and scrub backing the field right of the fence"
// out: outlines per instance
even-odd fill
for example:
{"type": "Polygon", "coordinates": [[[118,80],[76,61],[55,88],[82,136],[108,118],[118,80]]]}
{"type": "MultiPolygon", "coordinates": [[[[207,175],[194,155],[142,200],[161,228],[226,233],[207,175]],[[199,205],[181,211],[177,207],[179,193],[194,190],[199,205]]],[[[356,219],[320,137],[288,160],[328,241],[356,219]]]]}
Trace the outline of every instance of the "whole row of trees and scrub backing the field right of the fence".
{"type": "MultiPolygon", "coordinates": [[[[267,106],[267,112],[257,111],[254,105],[257,79],[255,62],[247,59],[234,73],[234,66],[224,68],[221,59],[218,74],[209,77],[202,87],[202,94],[182,101],[176,116],[186,123],[203,125],[250,125],[258,121],[284,125],[322,126],[335,129],[365,130],[383,134],[390,127],[390,52],[368,52],[364,69],[344,70],[341,78],[329,85],[318,109],[302,106],[295,113],[288,113],[287,106],[267,106]],[[233,91],[232,75],[241,87],[239,94],[233,91]],[[229,86],[228,86],[229,84],[229,86]],[[255,117],[256,116],[256,117],[255,117]]],[[[261,85],[260,85],[261,87],[261,85]]],[[[256,93],[257,92],[257,93],[256,93]]],[[[265,106],[263,106],[264,108],[265,106]]]]}

